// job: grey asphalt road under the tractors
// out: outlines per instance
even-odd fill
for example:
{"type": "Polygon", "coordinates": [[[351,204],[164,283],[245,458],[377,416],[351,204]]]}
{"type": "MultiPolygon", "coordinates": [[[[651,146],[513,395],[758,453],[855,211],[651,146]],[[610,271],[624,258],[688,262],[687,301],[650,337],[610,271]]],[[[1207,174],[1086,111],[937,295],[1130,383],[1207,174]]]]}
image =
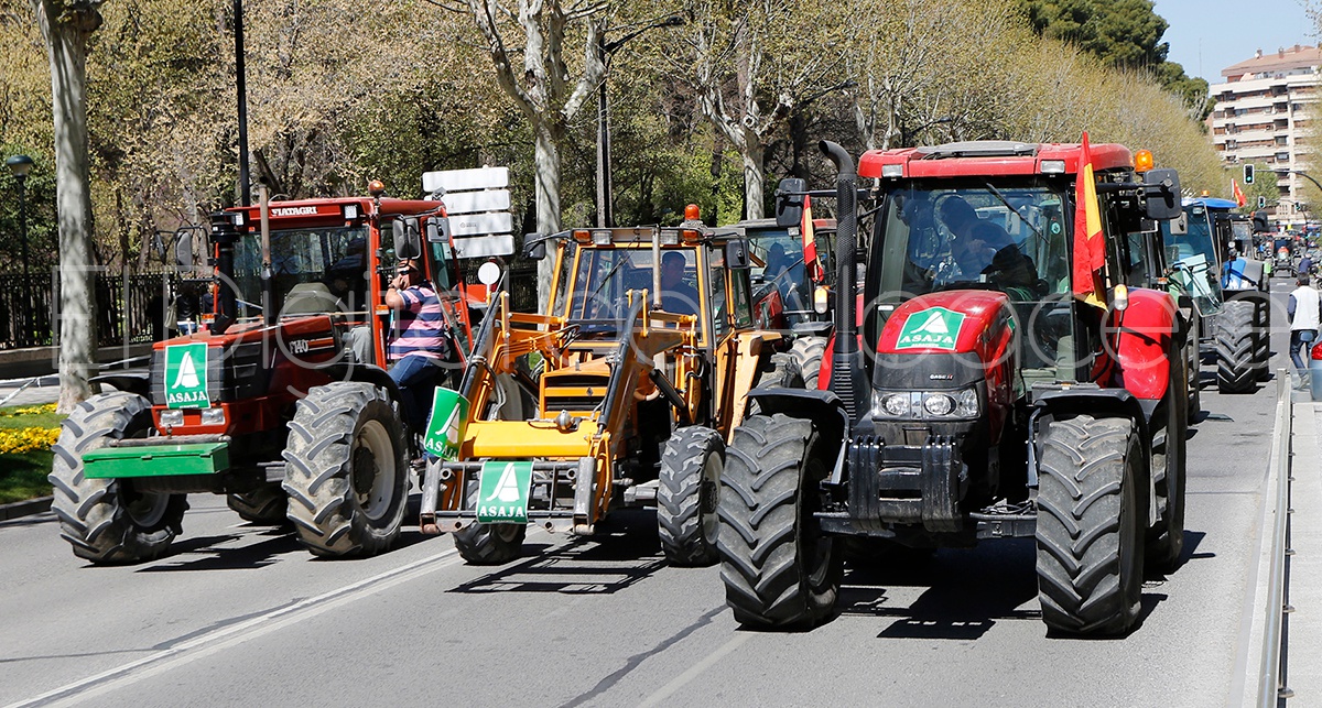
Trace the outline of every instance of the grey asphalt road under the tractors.
{"type": "Polygon", "coordinates": [[[1046,635],[1031,540],[851,571],[832,622],[758,633],[718,569],[662,563],[645,513],[592,539],[530,531],[492,569],[416,528],[313,560],[192,495],[173,552],[136,567],[83,564],[49,514],[0,524],[0,705],[1233,704],[1256,671],[1273,392],[1203,390],[1185,561],[1121,639],[1046,635]]]}

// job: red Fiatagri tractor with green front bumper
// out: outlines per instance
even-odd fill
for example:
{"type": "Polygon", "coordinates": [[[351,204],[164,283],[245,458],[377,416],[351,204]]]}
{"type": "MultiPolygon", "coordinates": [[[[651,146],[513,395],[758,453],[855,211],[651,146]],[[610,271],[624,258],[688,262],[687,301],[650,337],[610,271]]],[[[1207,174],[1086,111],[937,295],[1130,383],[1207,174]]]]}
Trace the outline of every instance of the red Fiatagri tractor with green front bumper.
{"type": "Polygon", "coordinates": [[[373,555],[399,534],[420,457],[386,372],[383,292],[414,258],[442,295],[455,370],[469,310],[443,202],[373,195],[274,202],[212,217],[205,329],[157,342],[149,372],[102,376],[54,446],[53,510],[77,556],[160,556],[188,493],[250,522],[291,522],[323,556],[373,555]]]}

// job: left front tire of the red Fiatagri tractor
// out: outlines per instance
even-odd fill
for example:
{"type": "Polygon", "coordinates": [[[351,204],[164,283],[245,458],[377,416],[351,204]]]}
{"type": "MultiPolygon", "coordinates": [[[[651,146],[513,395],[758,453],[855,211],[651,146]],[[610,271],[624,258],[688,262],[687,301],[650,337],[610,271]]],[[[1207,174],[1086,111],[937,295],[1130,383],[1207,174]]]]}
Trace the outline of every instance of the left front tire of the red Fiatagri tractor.
{"type": "Polygon", "coordinates": [[[98,565],[160,557],[182,534],[188,509],[182,494],[140,493],[132,479],[90,479],[82,456],[111,440],[143,437],[152,428],[152,406],[143,396],[114,392],[93,396],[65,419],[52,448],[50,510],[74,555],[98,565]]]}

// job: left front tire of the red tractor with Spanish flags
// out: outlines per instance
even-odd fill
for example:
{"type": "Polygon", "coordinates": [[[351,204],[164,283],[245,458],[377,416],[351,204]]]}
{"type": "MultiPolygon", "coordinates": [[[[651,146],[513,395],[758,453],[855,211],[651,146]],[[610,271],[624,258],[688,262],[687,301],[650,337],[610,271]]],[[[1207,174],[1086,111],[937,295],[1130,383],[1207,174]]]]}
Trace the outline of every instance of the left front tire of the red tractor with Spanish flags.
{"type": "Polygon", "coordinates": [[[785,415],[735,428],[720,476],[720,580],[735,620],[756,627],[812,626],[836,606],[843,564],[813,514],[830,472],[817,431],[785,415]]]}

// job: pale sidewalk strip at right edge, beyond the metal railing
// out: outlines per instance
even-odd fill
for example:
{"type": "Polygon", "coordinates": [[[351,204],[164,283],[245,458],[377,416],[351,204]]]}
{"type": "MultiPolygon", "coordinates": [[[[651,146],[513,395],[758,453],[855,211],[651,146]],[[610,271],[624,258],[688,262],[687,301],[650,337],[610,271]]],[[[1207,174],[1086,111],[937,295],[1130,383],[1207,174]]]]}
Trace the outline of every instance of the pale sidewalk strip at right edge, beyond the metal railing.
{"type": "Polygon", "coordinates": [[[1286,682],[1289,705],[1322,705],[1322,403],[1303,392],[1294,400],[1288,547],[1286,682]],[[1302,398],[1302,400],[1301,400],[1302,398]]]}

